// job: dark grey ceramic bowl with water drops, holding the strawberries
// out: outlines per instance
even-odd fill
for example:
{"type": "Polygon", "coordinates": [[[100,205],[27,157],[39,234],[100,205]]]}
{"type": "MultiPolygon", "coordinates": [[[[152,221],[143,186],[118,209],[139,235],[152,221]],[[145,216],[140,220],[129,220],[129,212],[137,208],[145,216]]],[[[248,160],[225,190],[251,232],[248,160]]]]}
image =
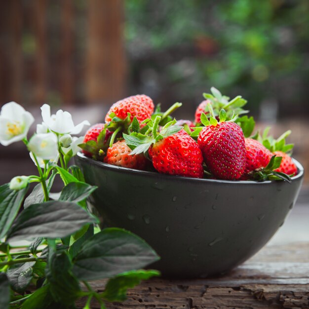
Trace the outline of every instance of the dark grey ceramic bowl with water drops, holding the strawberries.
{"type": "Polygon", "coordinates": [[[99,188],[90,203],[102,226],[144,238],[161,257],[165,276],[224,273],[259,251],[282,226],[301,188],[298,167],[284,181],[224,181],[162,175],[98,162],[77,154],[85,180],[99,188]]]}

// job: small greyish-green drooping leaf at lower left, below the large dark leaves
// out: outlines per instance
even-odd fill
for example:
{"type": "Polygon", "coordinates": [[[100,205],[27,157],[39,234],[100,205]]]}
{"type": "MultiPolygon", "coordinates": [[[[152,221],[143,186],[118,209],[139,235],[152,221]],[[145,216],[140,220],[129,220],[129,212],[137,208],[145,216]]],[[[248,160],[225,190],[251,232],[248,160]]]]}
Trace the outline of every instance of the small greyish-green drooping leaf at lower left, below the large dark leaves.
{"type": "Polygon", "coordinates": [[[7,271],[7,278],[15,292],[19,294],[25,292],[26,288],[32,280],[32,267],[35,264],[36,262],[17,264],[18,267],[7,271]]]}

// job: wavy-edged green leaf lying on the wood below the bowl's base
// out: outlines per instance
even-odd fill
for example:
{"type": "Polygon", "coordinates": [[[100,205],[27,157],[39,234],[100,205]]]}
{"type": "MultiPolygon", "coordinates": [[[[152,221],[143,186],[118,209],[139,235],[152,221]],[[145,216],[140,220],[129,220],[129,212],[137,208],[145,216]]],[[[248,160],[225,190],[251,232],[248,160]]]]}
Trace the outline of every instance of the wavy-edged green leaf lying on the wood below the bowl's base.
{"type": "Polygon", "coordinates": [[[102,297],[108,302],[123,302],[126,300],[128,288],[141,283],[141,280],[148,280],[153,276],[159,276],[157,270],[131,270],[117,275],[108,280],[102,297]]]}

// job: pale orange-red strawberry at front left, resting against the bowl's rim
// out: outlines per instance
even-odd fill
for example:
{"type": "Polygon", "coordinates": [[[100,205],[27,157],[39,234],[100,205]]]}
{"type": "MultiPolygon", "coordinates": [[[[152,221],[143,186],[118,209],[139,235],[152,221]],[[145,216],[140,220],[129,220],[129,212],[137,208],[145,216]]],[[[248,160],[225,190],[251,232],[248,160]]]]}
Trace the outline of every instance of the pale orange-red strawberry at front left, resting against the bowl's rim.
{"type": "Polygon", "coordinates": [[[124,140],[118,141],[107,150],[104,162],[127,168],[145,169],[147,158],[144,154],[131,155],[131,152],[124,140]]]}

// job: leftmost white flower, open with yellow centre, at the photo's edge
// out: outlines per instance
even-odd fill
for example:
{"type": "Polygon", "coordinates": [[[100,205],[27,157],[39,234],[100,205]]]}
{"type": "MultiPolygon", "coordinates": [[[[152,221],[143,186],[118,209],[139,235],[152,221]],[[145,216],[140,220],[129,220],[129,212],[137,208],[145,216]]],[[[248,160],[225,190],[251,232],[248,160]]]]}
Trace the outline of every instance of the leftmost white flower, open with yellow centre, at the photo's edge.
{"type": "Polygon", "coordinates": [[[19,104],[4,104],[0,112],[0,144],[7,146],[23,140],[34,120],[34,117],[19,104]]]}

